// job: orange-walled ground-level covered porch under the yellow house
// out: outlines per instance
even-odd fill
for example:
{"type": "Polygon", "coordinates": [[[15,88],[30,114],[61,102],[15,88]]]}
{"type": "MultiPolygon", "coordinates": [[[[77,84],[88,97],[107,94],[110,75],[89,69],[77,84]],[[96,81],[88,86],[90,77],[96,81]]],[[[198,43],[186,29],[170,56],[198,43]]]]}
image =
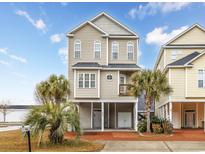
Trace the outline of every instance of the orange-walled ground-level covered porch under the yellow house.
{"type": "Polygon", "coordinates": [[[160,108],[160,115],[170,119],[175,129],[204,128],[205,102],[171,102],[160,108]]]}

